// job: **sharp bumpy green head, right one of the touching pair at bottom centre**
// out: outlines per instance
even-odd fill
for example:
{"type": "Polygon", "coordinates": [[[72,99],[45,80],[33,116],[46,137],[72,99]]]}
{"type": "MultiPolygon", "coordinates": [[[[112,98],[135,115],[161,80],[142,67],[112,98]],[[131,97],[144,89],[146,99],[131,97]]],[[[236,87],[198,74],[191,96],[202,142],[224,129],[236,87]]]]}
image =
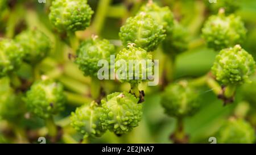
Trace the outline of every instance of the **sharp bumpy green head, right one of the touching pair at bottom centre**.
{"type": "Polygon", "coordinates": [[[107,100],[101,100],[102,125],[115,134],[130,132],[142,118],[142,104],[130,93],[113,93],[107,100]]]}

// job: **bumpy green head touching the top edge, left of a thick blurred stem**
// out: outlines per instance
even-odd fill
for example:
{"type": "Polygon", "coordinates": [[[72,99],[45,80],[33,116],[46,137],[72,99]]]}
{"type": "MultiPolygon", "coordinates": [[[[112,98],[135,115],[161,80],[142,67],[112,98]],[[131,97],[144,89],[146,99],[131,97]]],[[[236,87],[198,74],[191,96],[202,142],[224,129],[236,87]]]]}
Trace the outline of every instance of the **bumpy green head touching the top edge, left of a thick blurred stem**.
{"type": "Polygon", "coordinates": [[[93,14],[87,0],[55,0],[50,10],[49,19],[61,32],[85,30],[93,14]]]}

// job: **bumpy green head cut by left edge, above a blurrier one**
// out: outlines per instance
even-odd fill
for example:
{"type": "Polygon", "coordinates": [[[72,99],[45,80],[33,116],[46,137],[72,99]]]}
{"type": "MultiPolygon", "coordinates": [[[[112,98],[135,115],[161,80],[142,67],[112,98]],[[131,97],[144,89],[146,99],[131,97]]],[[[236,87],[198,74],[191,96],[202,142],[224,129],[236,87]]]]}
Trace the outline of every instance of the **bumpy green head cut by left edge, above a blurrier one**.
{"type": "Polygon", "coordinates": [[[17,70],[24,52],[20,45],[10,39],[0,39],[0,78],[17,70]]]}

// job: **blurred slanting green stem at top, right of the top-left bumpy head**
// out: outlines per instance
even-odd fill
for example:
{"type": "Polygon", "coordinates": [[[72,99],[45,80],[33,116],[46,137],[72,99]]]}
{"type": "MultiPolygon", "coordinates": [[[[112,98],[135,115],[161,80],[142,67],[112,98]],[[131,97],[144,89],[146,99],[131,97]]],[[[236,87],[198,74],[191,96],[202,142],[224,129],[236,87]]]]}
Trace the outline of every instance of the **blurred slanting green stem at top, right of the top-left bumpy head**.
{"type": "Polygon", "coordinates": [[[112,0],[100,0],[97,7],[97,14],[94,17],[92,27],[97,35],[100,34],[102,26],[104,26],[105,17],[109,10],[109,5],[112,0]]]}

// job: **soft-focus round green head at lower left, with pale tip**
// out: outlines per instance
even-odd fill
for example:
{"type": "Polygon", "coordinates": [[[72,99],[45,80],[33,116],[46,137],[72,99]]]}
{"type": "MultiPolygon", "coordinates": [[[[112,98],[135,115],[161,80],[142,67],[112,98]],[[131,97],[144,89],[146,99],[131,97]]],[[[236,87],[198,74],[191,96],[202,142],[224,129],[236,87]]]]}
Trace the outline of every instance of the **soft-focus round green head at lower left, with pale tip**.
{"type": "Polygon", "coordinates": [[[30,112],[47,119],[64,110],[66,96],[61,83],[44,80],[35,82],[24,98],[30,112]]]}

